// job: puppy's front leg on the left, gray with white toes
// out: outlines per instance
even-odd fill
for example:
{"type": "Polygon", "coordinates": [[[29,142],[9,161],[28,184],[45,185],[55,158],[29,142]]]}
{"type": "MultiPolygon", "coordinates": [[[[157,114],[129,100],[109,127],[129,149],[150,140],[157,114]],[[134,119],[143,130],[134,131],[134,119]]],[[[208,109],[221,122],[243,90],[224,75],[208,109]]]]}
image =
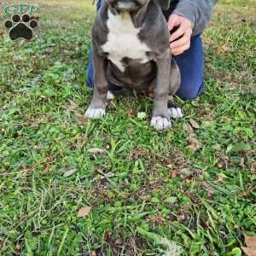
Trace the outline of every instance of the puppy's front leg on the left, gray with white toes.
{"type": "Polygon", "coordinates": [[[98,55],[96,47],[93,45],[94,90],[90,107],[85,116],[91,119],[100,119],[106,112],[108,82],[106,79],[107,60],[98,55]]]}

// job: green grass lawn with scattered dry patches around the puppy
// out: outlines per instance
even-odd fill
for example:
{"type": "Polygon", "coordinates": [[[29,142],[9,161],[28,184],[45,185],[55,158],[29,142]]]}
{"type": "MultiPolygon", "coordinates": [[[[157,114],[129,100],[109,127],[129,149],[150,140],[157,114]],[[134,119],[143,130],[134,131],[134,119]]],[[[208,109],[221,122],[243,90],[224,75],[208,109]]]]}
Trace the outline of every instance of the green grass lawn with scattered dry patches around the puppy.
{"type": "Polygon", "coordinates": [[[95,7],[38,3],[31,43],[0,36],[0,252],[241,255],[256,230],[253,0],[218,3],[203,37],[207,90],[164,133],[148,125],[148,99],[84,118],[95,7]]]}

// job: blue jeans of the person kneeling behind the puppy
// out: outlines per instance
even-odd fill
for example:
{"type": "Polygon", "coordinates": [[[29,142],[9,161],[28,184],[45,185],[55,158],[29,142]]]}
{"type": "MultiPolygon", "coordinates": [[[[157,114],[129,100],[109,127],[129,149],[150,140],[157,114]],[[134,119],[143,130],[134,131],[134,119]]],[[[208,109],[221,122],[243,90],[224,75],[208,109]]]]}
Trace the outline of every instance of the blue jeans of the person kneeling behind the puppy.
{"type": "MultiPolygon", "coordinates": [[[[98,1],[97,10],[100,9],[102,1],[98,1]]],[[[181,73],[181,86],[177,90],[177,96],[183,100],[192,100],[200,96],[205,90],[204,83],[204,51],[201,35],[191,38],[190,48],[182,55],[173,56],[177,61],[181,73]]],[[[87,73],[87,86],[93,87],[94,67],[92,61],[92,50],[89,54],[89,65],[87,73]]],[[[108,81],[109,90],[119,90],[119,87],[108,81]]]]}

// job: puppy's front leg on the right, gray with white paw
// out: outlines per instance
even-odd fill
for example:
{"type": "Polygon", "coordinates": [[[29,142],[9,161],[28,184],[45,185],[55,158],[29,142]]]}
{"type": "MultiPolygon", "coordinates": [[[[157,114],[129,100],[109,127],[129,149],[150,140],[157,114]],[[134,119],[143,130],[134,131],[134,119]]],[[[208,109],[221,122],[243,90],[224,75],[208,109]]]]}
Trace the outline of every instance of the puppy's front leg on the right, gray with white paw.
{"type": "Polygon", "coordinates": [[[169,51],[157,58],[157,80],[154,87],[154,109],[151,125],[156,130],[167,130],[171,125],[170,112],[168,111],[168,95],[170,84],[171,55],[169,51]]]}

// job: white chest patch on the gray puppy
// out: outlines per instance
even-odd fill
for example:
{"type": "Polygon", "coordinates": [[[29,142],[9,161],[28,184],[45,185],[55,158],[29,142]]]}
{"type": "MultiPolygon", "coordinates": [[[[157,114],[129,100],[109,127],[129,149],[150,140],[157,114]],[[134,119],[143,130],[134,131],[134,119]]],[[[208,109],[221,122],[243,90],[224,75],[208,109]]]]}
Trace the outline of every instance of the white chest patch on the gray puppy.
{"type": "Polygon", "coordinates": [[[119,68],[121,72],[125,71],[122,63],[124,57],[131,59],[140,59],[141,63],[149,60],[146,52],[149,48],[142,43],[137,34],[140,28],[136,28],[128,13],[113,15],[108,10],[108,40],[102,45],[104,52],[108,52],[108,59],[119,68]]]}

